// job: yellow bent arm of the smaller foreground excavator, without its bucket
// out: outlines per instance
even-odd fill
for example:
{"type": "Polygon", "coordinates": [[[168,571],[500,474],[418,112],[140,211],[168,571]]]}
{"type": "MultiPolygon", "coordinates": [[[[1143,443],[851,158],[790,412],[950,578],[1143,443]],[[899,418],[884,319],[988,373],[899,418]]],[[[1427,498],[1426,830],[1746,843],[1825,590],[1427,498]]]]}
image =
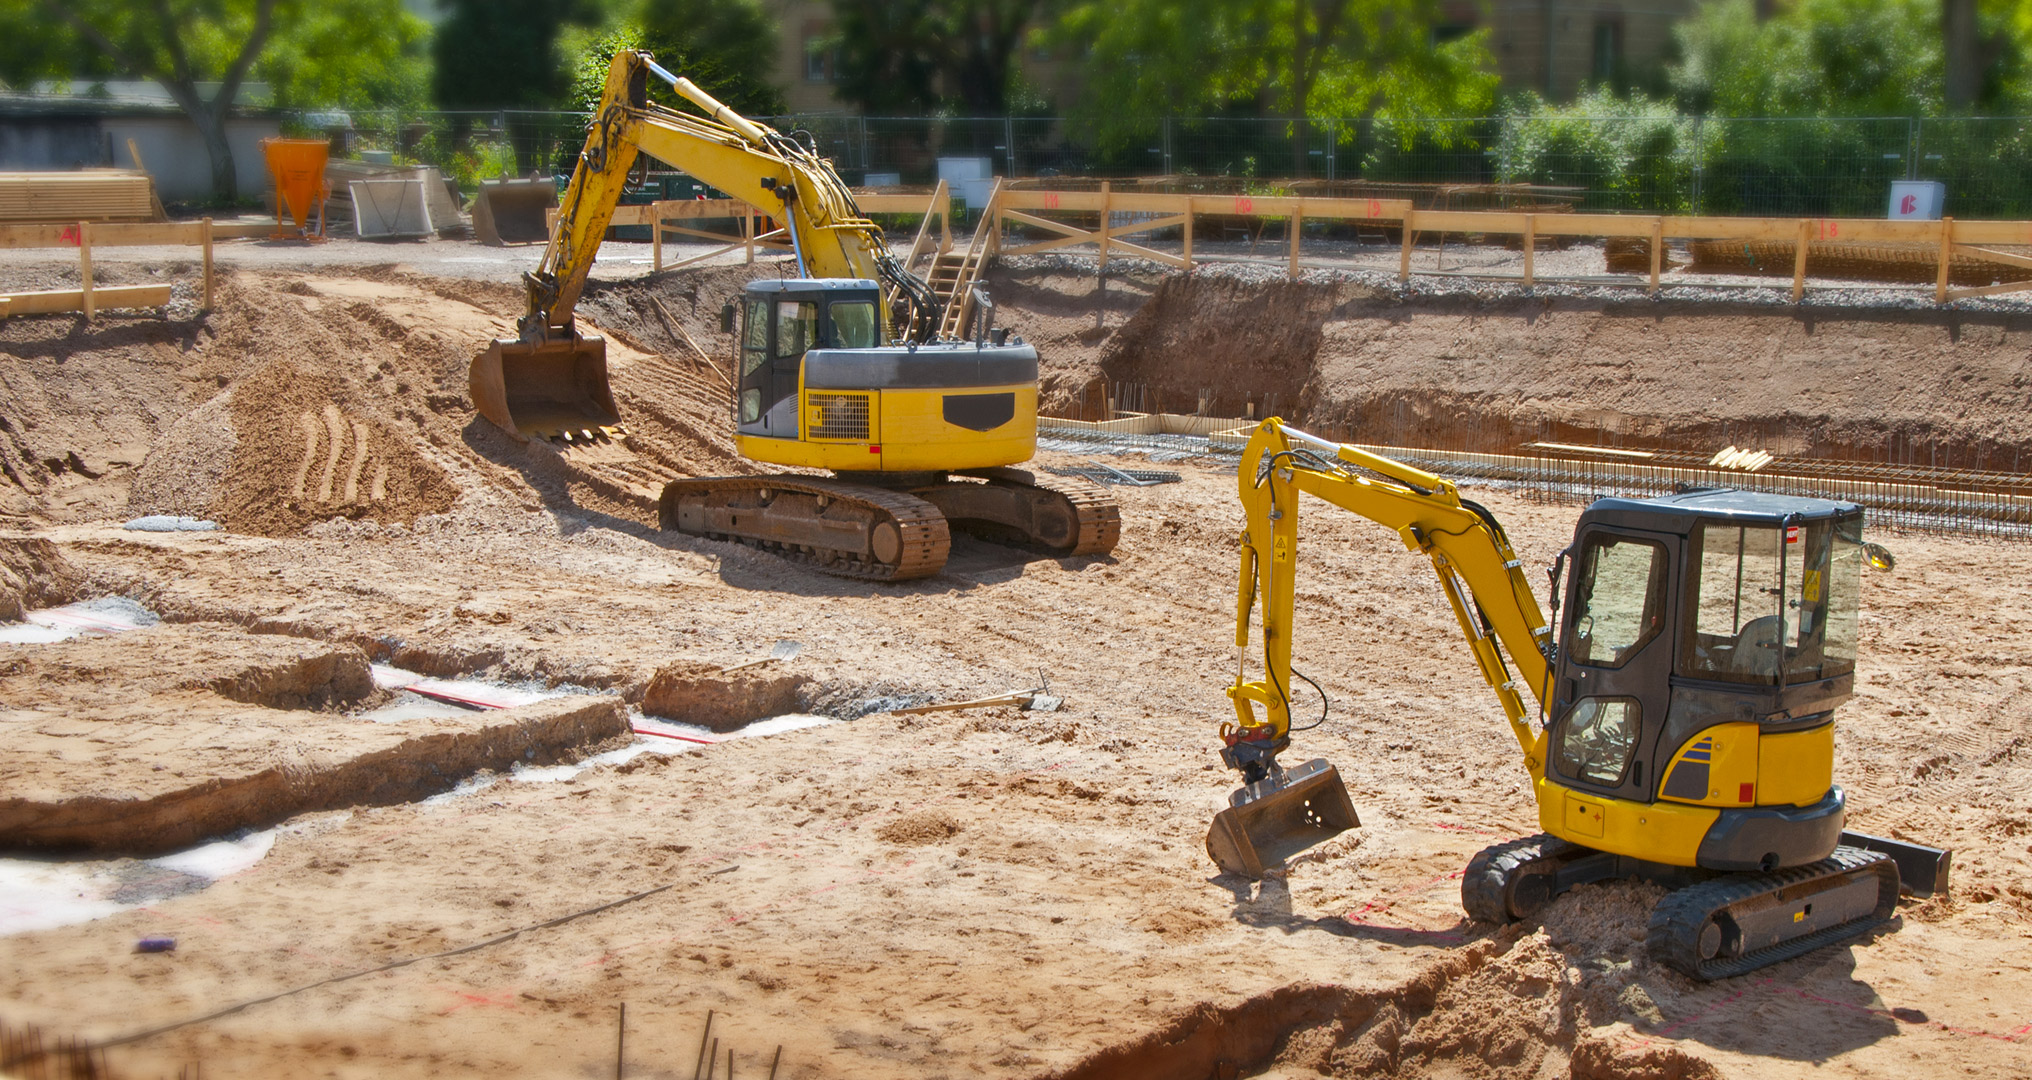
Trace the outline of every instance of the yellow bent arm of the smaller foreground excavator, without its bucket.
{"type": "Polygon", "coordinates": [[[1264,677],[1235,673],[1227,689],[1235,724],[1221,734],[1280,748],[1290,730],[1290,631],[1298,555],[1298,494],[1394,529],[1404,545],[1433,559],[1481,677],[1504,704],[1532,777],[1544,771],[1524,694],[1550,694],[1552,628],[1540,614],[1524,569],[1496,519],[1463,502],[1453,482],[1319,439],[1270,417],[1256,427],[1237,470],[1248,527],[1242,533],[1242,580],[1235,602],[1235,647],[1250,645],[1250,614],[1260,608],[1264,677]],[[1508,655],[1508,663],[1506,657],[1508,655]],[[1516,667],[1516,675],[1510,667],[1516,667]],[[1260,708],[1260,712],[1258,712],[1260,708]]]}

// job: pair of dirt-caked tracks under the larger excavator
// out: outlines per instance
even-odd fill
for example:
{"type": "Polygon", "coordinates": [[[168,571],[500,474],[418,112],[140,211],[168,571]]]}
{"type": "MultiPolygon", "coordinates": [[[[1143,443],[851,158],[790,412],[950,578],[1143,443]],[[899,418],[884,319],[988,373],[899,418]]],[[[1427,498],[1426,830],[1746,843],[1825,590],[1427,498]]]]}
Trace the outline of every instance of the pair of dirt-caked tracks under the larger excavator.
{"type": "Polygon", "coordinates": [[[819,476],[673,480],[658,517],[675,533],[870,582],[937,574],[955,527],[1051,555],[1101,555],[1122,537],[1122,511],[1105,490],[1016,468],[929,474],[900,486],[819,476]]]}

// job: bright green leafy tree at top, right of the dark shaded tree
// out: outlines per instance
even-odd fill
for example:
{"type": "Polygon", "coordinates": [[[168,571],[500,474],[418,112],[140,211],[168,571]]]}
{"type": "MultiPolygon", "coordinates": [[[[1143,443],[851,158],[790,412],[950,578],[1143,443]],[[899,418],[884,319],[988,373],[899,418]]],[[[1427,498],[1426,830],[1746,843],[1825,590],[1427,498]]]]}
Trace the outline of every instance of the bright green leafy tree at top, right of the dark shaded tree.
{"type": "Polygon", "coordinates": [[[1481,116],[1485,35],[1435,43],[1439,0],[1085,0],[1055,39],[1087,51],[1079,116],[1103,138],[1152,116],[1481,116]]]}

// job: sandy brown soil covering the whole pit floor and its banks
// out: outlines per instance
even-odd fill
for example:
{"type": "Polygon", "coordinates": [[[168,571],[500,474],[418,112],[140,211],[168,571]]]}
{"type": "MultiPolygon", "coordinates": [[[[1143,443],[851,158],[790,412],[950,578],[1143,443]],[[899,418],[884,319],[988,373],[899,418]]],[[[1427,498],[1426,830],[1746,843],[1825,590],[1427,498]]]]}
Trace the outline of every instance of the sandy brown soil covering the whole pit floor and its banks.
{"type": "MultiPolygon", "coordinates": [[[[205,820],[303,828],[209,889],[0,938],[0,1013],[118,1039],[494,942],[122,1043],[112,1064],[604,1076],[626,1003],[638,1076],[685,1074],[707,1011],[744,1076],[778,1043],[790,1078],[2032,1070],[2032,547],[1880,535],[1898,569],[1865,582],[1835,771],[1853,828],[1957,850],[1953,897],[1697,984],[1642,954],[1656,893],[1638,885],[1581,889],[1520,927],[1463,921],[1461,866],[1536,814],[1431,567],[1394,535],[1305,511],[1294,663],[1333,710],[1298,738],[1341,769],[1363,826],[1248,883],[1201,850],[1231,787],[1215,761],[1235,663],[1231,474],[1183,464],[1179,484],[1118,490],[1112,557],[959,539],[943,574],[902,586],[658,533],[660,478],[752,468],[725,435],[717,307],[776,273],[591,291],[626,454],[557,454],[473,417],[465,362],[510,323],[510,285],[240,273],[203,321],[0,323],[0,602],[118,594],[165,616],[0,647],[0,799],[289,775],[295,746],[368,765],[412,746],[400,761],[423,777],[388,799],[205,820]],[[118,527],[146,511],[203,511],[224,531],[118,527]],[[778,639],[805,651],[705,698],[713,671],[778,639]],[[774,708],[778,681],[801,710],[860,716],[1032,687],[1040,669],[1065,708],[878,712],[419,801],[449,787],[427,765],[506,769],[526,748],[360,720],[376,700],[364,661],[601,689],[610,718],[616,698],[774,708]],[[150,934],[177,950],[132,952],[150,934]]],[[[1622,431],[1719,449],[1723,431],[1762,431],[1798,439],[1772,449],[1825,449],[1904,431],[1991,447],[1991,464],[2026,441],[2028,325],[2006,317],[1392,307],[1347,287],[1049,266],[992,285],[1059,403],[1105,380],[1166,407],[1213,388],[1215,413],[1274,393],[1374,441],[1622,431]]],[[[1569,539],[1573,506],[1475,496],[1528,565],[1569,539]]],[[[606,746],[597,734],[555,757],[606,746]]],[[[134,816],[134,832],[197,838],[173,818],[134,816]]],[[[20,848],[18,828],[0,840],[20,848]]]]}

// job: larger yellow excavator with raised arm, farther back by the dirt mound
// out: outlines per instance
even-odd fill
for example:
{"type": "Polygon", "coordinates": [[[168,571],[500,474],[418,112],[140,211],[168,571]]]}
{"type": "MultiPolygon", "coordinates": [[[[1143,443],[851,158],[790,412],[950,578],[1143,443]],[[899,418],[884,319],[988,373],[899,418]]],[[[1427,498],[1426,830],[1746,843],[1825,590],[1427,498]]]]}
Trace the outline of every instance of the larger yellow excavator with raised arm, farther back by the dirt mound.
{"type": "Polygon", "coordinates": [[[886,582],[937,574],[949,525],[1055,555],[1114,549],[1122,515],[1105,490],[1008,468],[1036,454],[1036,350],[992,327],[981,295],[971,340],[937,340],[937,293],[809,138],[740,116],[642,51],[608,69],[557,232],[524,275],[518,334],[473,358],[480,415],[565,449],[626,437],[606,342],[577,329],[573,307],[642,155],[784,224],[799,277],[752,281],[721,313],[738,342],[734,441],[754,462],[835,474],[673,480],[664,529],[886,582]],[[652,104],[650,77],[705,116],[652,104]]]}

